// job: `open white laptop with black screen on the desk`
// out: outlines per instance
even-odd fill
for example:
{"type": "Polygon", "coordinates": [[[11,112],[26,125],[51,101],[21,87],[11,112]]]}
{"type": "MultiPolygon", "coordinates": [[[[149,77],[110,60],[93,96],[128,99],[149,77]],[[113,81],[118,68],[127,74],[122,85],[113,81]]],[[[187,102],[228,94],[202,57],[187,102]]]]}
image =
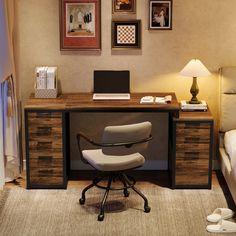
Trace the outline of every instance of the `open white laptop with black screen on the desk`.
{"type": "Polygon", "coordinates": [[[129,100],[129,71],[94,71],[93,91],[93,100],[129,100]]]}

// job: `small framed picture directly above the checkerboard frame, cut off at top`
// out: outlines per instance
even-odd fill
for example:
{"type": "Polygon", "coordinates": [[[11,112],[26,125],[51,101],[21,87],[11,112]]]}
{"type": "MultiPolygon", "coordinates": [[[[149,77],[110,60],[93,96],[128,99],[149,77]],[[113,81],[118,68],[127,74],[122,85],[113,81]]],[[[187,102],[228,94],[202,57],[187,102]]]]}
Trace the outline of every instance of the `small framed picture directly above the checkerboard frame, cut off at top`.
{"type": "Polygon", "coordinates": [[[136,12],[135,0],[112,0],[113,14],[129,14],[136,12]]]}

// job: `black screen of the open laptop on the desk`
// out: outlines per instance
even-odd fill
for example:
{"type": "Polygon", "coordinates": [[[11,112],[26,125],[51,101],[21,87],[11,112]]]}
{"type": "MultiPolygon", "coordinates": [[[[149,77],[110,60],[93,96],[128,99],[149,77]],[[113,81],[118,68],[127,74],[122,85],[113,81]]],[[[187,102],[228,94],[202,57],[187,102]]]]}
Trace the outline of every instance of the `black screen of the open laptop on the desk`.
{"type": "Polygon", "coordinates": [[[129,93],[130,73],[128,70],[97,70],[93,77],[94,93],[129,93]]]}

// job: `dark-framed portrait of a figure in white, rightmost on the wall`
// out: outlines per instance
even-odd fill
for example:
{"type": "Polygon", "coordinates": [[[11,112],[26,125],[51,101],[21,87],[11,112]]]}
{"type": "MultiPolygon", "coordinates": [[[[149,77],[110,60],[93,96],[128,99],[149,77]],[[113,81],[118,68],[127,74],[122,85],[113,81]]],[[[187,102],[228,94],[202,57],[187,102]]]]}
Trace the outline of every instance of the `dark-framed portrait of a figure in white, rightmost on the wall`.
{"type": "Polygon", "coordinates": [[[172,0],[149,0],[149,29],[172,29],[172,0]]]}

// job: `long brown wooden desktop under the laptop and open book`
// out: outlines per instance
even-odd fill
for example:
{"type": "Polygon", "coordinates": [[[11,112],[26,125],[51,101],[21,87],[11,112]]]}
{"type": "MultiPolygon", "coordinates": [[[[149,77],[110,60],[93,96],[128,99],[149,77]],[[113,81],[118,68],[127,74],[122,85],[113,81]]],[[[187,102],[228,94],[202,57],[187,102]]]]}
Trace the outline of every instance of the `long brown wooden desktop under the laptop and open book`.
{"type": "Polygon", "coordinates": [[[178,112],[179,103],[175,93],[131,93],[130,100],[97,100],[92,93],[65,93],[57,98],[34,98],[32,95],[26,100],[25,109],[51,109],[65,111],[158,111],[178,112]],[[168,104],[140,104],[143,96],[172,96],[168,104]]]}

